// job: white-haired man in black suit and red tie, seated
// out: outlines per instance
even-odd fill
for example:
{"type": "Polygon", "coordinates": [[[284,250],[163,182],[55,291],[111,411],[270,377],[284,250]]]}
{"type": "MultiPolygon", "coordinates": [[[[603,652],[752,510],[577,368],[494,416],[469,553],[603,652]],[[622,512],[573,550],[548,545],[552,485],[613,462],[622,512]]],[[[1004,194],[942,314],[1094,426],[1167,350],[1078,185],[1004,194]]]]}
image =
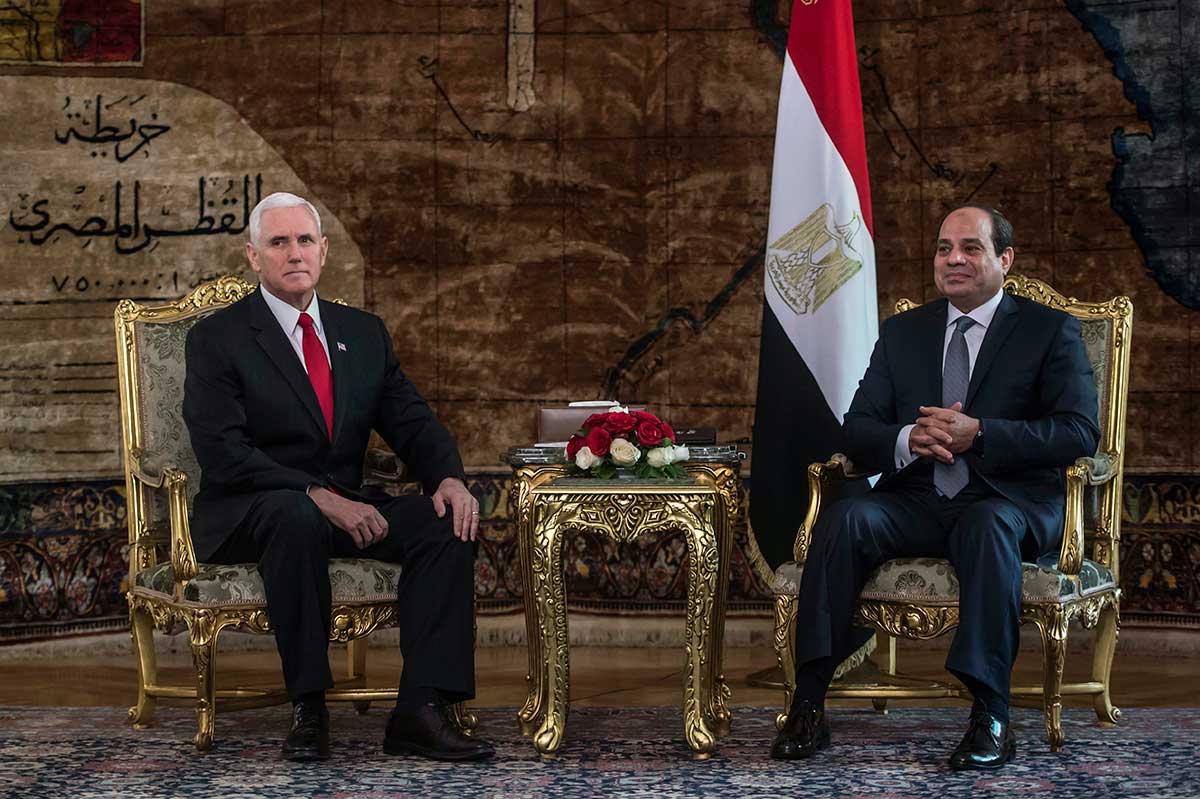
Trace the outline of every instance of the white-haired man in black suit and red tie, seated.
{"type": "Polygon", "coordinates": [[[188,335],[184,419],[202,471],[196,554],[258,564],[293,701],[286,758],[329,757],[329,560],[337,557],[402,565],[404,666],[384,750],[490,757],[492,747],[462,735],[446,710],[474,695],[479,504],[454,439],[401,372],[383,320],[317,298],[328,251],[312,204],[266,197],[246,244],[259,290],[188,335]],[[425,495],[364,489],[372,429],[425,495]]]}

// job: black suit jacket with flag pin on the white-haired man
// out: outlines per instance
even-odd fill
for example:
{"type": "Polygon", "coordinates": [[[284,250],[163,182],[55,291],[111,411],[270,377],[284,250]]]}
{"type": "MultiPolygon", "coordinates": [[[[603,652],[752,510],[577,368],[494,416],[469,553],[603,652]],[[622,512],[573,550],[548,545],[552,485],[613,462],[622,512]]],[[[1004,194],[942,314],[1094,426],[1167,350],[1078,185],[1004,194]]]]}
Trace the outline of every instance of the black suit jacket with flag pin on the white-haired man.
{"type": "Polygon", "coordinates": [[[362,461],[376,429],[432,492],[462,477],[449,431],[400,370],[374,314],[320,302],[334,377],[334,435],[295,350],[259,288],[198,322],[187,336],[184,420],[200,464],[192,541],[211,557],[260,492],[317,483],[362,493],[362,461]]]}

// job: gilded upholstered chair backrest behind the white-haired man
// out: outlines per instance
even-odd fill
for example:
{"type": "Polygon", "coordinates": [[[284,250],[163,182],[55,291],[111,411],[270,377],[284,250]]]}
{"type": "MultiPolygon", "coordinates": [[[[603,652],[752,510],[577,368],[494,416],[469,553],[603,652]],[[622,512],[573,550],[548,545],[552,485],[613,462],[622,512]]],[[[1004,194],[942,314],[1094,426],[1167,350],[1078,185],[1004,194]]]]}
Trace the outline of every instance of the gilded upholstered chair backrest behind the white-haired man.
{"type": "Polygon", "coordinates": [[[222,277],[178,302],[150,306],[121,300],[116,306],[121,444],[134,569],[154,565],[156,548],[167,541],[167,503],[160,492],[144,492],[132,474],[157,479],[167,468],[182,471],[187,475],[188,510],[200,487],[200,467],[182,414],[187,331],[254,288],[239,277],[222,277]]]}

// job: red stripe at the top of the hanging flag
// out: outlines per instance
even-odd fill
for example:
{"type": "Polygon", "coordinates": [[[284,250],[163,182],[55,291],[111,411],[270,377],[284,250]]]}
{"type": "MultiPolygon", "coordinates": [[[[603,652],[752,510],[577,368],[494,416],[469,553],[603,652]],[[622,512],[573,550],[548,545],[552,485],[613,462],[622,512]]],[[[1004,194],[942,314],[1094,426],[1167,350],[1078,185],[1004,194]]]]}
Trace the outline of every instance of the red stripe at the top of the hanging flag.
{"type": "Polygon", "coordinates": [[[858,86],[854,16],[850,0],[794,0],[787,54],[817,116],[854,179],[866,230],[875,238],[866,176],[863,95],[858,86]]]}

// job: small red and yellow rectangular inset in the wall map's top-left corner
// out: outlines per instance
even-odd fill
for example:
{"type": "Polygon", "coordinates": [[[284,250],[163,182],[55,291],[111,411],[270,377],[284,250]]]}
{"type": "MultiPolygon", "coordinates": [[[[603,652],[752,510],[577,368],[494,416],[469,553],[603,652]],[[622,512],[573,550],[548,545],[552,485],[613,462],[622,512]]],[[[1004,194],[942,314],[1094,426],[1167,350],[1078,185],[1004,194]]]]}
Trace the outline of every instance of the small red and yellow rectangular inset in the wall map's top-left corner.
{"type": "Polygon", "coordinates": [[[143,8],[133,0],[6,0],[0,64],[142,64],[143,8]]]}

